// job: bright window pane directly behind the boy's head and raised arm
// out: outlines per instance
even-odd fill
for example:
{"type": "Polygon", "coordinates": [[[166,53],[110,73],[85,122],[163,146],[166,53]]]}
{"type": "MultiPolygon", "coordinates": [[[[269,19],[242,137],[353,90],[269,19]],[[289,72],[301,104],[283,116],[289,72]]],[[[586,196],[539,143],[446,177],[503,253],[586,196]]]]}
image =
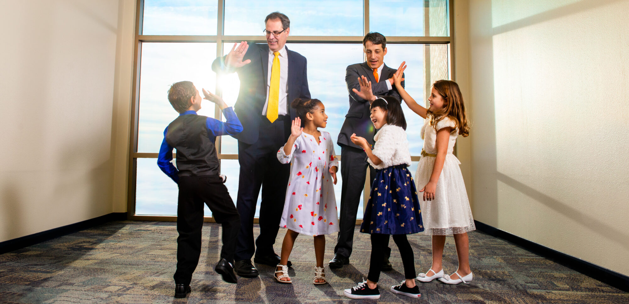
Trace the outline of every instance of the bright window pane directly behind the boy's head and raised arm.
{"type": "MultiPolygon", "coordinates": [[[[216,43],[142,43],[138,152],[159,152],[164,129],[177,118],[168,102],[168,89],[178,81],[194,82],[214,92],[216,74],[211,71],[216,43]]],[[[204,100],[199,115],[214,117],[214,104],[204,100]]]]}

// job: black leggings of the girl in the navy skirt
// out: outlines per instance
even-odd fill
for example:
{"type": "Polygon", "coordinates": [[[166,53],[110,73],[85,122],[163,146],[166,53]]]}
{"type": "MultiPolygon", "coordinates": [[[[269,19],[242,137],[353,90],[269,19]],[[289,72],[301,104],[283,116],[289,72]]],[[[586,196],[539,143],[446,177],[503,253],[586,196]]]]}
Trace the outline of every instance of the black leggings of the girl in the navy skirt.
{"type": "MultiPolygon", "coordinates": [[[[415,257],[413,256],[413,248],[406,239],[406,234],[394,234],[393,241],[398,245],[399,254],[402,256],[404,278],[415,279],[415,257]]],[[[388,234],[371,234],[371,261],[369,262],[369,274],[367,275],[369,281],[377,282],[380,279],[384,250],[387,249],[388,245],[388,234]]]]}

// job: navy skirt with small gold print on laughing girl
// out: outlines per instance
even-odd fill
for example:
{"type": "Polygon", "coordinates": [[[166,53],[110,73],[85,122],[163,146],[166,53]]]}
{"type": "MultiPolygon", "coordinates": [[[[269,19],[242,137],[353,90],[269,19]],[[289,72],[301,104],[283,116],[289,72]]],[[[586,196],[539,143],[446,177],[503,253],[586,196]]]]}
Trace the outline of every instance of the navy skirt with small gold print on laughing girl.
{"type": "Polygon", "coordinates": [[[406,165],[376,169],[360,232],[416,234],[422,231],[417,189],[406,165]]]}

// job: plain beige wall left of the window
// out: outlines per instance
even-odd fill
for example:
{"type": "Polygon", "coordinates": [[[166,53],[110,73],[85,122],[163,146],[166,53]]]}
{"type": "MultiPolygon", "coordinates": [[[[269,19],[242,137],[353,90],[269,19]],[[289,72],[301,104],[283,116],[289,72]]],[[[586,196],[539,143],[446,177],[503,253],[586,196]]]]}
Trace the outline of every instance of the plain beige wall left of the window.
{"type": "Polygon", "coordinates": [[[126,210],[134,2],[3,1],[0,241],[126,210]]]}

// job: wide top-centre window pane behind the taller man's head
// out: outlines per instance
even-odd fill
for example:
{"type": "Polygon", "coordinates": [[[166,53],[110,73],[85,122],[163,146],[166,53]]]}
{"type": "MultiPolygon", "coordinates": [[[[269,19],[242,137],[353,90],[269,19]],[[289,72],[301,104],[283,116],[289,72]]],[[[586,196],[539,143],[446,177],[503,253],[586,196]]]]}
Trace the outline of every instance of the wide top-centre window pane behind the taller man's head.
{"type": "Polygon", "coordinates": [[[226,0],[225,35],[260,35],[274,11],[291,20],[292,36],[362,36],[363,0],[226,0]]]}

